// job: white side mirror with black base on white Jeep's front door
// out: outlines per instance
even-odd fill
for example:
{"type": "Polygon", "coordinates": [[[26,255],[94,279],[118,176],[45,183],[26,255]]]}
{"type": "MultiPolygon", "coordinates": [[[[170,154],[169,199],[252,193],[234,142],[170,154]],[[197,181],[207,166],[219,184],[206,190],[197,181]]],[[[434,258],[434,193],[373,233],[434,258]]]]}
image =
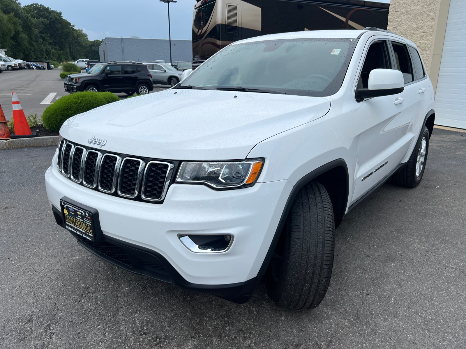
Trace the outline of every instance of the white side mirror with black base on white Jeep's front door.
{"type": "Polygon", "coordinates": [[[403,73],[394,69],[373,69],[369,74],[368,88],[358,88],[356,98],[388,96],[404,91],[403,73]]]}

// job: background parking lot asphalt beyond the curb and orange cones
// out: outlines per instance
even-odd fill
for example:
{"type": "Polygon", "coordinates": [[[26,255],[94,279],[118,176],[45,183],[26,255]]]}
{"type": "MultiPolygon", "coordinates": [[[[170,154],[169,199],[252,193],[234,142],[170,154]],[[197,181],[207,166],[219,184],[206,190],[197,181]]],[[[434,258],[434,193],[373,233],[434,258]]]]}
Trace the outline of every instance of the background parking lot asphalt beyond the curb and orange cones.
{"type": "MultiPolygon", "coordinates": [[[[52,70],[6,70],[0,74],[0,105],[7,120],[13,118],[11,93],[16,92],[21,107],[26,116],[37,114],[40,118],[45,108],[62,96],[65,92],[63,82],[60,79],[61,68],[52,70]],[[41,104],[43,103],[43,104],[41,104]]],[[[170,86],[155,85],[151,93],[163,91],[170,86]]],[[[126,94],[117,94],[120,99],[126,98],[126,94]]]]}

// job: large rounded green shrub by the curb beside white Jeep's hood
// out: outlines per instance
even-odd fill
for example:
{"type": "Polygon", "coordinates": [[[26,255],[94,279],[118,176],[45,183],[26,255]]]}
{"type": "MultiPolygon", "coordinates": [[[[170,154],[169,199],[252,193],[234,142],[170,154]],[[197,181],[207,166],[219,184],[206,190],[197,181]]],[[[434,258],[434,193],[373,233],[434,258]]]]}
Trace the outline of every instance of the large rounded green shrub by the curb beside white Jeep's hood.
{"type": "Polygon", "coordinates": [[[95,92],[76,92],[61,97],[45,108],[42,122],[49,131],[59,131],[67,119],[107,104],[102,94],[95,92]]]}

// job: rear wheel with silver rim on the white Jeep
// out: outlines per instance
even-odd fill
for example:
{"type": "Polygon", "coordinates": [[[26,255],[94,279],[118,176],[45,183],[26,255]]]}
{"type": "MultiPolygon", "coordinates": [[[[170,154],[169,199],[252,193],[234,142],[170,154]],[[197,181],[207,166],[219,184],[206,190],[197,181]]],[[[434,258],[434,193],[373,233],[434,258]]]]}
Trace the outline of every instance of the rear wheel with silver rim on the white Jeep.
{"type": "Polygon", "coordinates": [[[391,181],[401,187],[414,188],[422,181],[427,154],[429,153],[429,130],[424,126],[418,143],[411,153],[406,166],[391,176],[391,181]]]}

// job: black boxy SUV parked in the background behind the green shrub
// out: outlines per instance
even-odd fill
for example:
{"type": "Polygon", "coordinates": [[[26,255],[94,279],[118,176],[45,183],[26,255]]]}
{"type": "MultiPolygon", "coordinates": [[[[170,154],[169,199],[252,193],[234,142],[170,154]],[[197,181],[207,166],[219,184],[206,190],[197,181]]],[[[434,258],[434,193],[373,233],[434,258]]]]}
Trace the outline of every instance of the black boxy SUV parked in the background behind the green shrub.
{"type": "Polygon", "coordinates": [[[148,94],[154,89],[152,76],[142,63],[96,63],[87,73],[71,74],[65,78],[65,91],[124,92],[129,96],[148,94]]]}

